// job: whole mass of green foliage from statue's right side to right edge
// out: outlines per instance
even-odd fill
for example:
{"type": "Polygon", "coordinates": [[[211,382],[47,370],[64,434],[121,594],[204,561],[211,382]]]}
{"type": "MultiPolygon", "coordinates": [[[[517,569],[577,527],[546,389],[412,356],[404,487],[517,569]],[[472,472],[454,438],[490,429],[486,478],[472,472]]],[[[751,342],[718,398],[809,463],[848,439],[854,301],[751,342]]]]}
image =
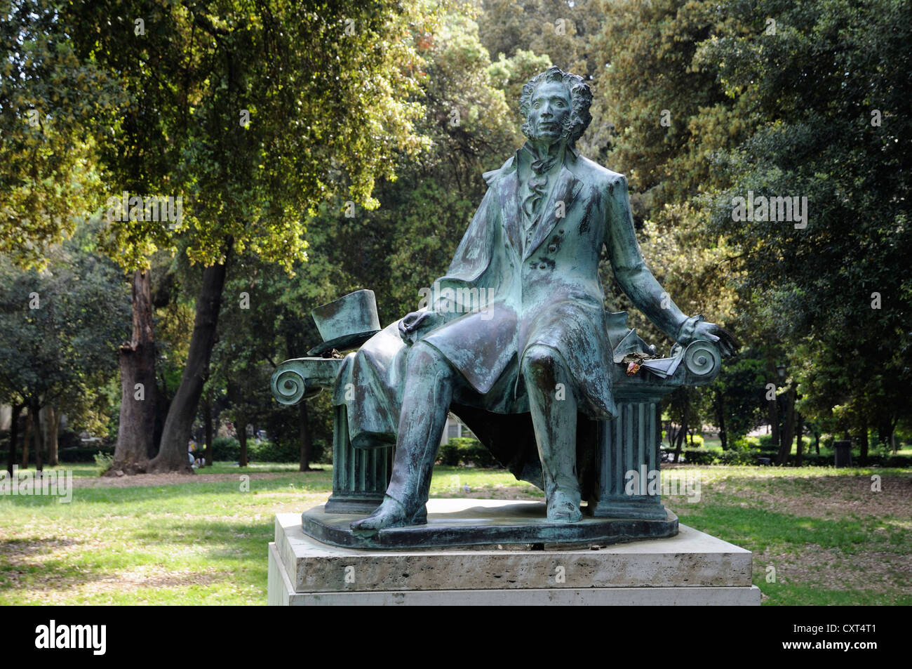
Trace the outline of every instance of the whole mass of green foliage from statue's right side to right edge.
{"type": "Polygon", "coordinates": [[[720,425],[710,407],[724,402],[728,432],[744,434],[772,383],[777,406],[761,411],[783,441],[802,417],[863,448],[868,428],[889,441],[912,418],[907,7],[605,6],[596,119],[613,130],[607,160],[640,192],[645,255],[660,277],[668,268],[672,296],[750,345],[691,422],[720,425]],[[749,192],[806,197],[808,220],[737,220],[733,198],[749,192]]]}

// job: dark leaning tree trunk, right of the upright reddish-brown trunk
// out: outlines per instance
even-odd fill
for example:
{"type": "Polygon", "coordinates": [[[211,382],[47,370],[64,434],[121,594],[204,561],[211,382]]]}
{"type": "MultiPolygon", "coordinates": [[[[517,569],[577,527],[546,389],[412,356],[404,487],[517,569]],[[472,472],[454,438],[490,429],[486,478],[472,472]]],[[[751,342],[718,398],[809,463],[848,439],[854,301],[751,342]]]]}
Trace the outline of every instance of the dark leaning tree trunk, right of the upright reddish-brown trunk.
{"type": "Polygon", "coordinates": [[[159,455],[149,463],[150,472],[193,473],[187,458],[187,442],[190,441],[193,419],[200,405],[202,386],[209,378],[209,359],[215,346],[224,284],[224,265],[212,265],[203,270],[187,365],[165,419],[159,455]]]}

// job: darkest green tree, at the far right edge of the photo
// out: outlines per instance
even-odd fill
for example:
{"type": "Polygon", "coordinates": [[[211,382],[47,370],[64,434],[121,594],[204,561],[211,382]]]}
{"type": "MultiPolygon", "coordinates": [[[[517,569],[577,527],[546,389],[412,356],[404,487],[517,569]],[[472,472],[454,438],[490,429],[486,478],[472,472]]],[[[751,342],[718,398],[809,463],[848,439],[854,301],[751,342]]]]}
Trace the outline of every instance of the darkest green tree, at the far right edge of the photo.
{"type": "MultiPolygon", "coordinates": [[[[777,322],[800,412],[834,419],[864,447],[872,424],[888,433],[907,415],[912,391],[901,353],[912,310],[902,148],[912,119],[900,111],[912,17],[892,0],[725,9],[743,31],[707,41],[698,59],[714,64],[751,123],[741,146],[717,158],[729,186],[709,231],[736,249],[741,294],[762,295],[777,322]],[[783,221],[758,209],[741,220],[734,198],[749,192],[796,196],[807,215],[783,221]]],[[[791,434],[782,436],[785,454],[791,434]]]]}

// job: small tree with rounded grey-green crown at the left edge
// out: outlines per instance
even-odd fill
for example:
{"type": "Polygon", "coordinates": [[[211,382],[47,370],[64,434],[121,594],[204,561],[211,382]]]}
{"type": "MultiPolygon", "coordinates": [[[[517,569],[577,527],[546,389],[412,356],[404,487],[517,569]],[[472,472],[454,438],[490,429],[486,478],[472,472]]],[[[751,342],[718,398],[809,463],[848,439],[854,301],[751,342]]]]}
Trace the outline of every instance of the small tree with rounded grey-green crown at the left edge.
{"type": "MultiPolygon", "coordinates": [[[[52,246],[41,272],[0,256],[0,395],[27,407],[39,469],[43,443],[57,440],[57,418],[47,411],[50,429],[48,439],[42,438],[42,409],[73,409],[73,418],[85,410],[86,398],[98,396],[104,385],[113,351],[129,327],[119,271],[93,252],[88,235],[83,230],[63,246],[52,246]]],[[[50,464],[56,464],[53,451],[50,455],[50,464]]]]}

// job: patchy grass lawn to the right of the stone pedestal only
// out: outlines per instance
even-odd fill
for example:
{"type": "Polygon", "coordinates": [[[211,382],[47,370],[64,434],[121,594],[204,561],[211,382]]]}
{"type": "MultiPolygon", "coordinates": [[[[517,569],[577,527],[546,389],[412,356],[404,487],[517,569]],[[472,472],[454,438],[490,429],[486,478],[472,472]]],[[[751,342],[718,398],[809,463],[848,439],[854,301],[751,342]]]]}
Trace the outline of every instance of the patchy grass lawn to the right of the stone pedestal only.
{"type": "Polygon", "coordinates": [[[681,469],[700,476],[700,501],[666,505],[682,523],[753,552],[763,603],[912,604],[909,470],[681,469]]]}

